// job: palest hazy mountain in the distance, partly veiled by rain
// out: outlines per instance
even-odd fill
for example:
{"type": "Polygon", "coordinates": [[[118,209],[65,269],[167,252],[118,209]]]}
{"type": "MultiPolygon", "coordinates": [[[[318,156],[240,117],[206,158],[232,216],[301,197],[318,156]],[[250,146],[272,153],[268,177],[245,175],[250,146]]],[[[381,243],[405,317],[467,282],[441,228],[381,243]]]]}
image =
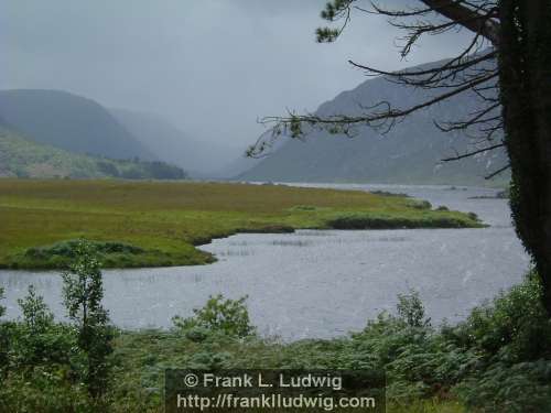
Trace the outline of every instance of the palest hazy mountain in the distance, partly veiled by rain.
{"type": "Polygon", "coordinates": [[[110,112],[155,156],[185,167],[194,177],[229,177],[247,169],[226,171],[231,163],[228,154],[237,152],[236,148],[191,138],[159,115],[127,109],[110,109],[110,112]]]}

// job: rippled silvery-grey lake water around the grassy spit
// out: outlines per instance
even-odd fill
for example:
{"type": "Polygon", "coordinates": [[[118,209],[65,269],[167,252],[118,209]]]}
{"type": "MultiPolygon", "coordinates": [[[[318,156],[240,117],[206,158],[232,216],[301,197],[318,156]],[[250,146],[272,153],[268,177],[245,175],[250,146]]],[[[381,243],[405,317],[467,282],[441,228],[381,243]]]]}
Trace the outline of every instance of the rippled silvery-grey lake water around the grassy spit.
{"type": "MultiPolygon", "coordinates": [[[[420,292],[435,323],[468,311],[522,280],[529,267],[496,189],[439,186],[304,185],[382,189],[428,199],[434,206],[474,211],[484,229],[367,231],[303,230],[285,235],[237,235],[201,247],[218,262],[165,269],[106,270],[105,306],[125,328],[170,327],[210,294],[248,295],[252,323],[283,339],[334,337],[361,329],[369,317],[393,311],[397,294],[420,292]]],[[[63,317],[55,272],[0,271],[8,317],[32,283],[63,317]]]]}

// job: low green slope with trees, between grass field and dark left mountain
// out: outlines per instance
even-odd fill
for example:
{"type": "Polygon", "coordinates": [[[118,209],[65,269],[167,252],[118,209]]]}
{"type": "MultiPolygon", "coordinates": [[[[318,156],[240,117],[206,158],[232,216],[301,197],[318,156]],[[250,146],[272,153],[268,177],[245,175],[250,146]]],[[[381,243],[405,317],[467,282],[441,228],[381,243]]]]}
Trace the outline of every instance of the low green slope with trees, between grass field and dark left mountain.
{"type": "Polygon", "coordinates": [[[185,177],[185,173],[176,166],[159,161],[123,161],[75,154],[36,143],[0,127],[0,176],[181,180],[185,177]]]}

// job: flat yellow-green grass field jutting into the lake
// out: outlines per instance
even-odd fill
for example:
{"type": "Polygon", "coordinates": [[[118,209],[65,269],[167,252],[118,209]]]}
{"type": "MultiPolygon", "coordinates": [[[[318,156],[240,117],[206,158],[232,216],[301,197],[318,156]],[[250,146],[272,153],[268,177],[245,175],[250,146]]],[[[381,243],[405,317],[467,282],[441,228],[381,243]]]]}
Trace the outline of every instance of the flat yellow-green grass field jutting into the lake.
{"type": "Polygon", "coordinates": [[[63,268],[66,241],[98,242],[105,267],[214,261],[195,248],[237,232],[464,228],[475,217],[364,192],[191,182],[0,180],[0,267],[63,268]]]}

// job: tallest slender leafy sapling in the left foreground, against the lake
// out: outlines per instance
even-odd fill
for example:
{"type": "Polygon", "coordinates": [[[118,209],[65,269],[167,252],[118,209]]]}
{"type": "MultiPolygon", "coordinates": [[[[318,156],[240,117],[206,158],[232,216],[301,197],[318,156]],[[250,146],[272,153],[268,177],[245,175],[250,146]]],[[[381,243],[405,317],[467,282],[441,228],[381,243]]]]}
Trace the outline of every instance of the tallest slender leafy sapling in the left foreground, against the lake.
{"type": "Polygon", "coordinates": [[[74,249],[75,259],[62,274],[63,296],[76,325],[78,348],[86,359],[83,380],[89,394],[97,399],[107,390],[114,334],[101,305],[104,286],[97,251],[86,240],[79,240],[74,249]]]}

